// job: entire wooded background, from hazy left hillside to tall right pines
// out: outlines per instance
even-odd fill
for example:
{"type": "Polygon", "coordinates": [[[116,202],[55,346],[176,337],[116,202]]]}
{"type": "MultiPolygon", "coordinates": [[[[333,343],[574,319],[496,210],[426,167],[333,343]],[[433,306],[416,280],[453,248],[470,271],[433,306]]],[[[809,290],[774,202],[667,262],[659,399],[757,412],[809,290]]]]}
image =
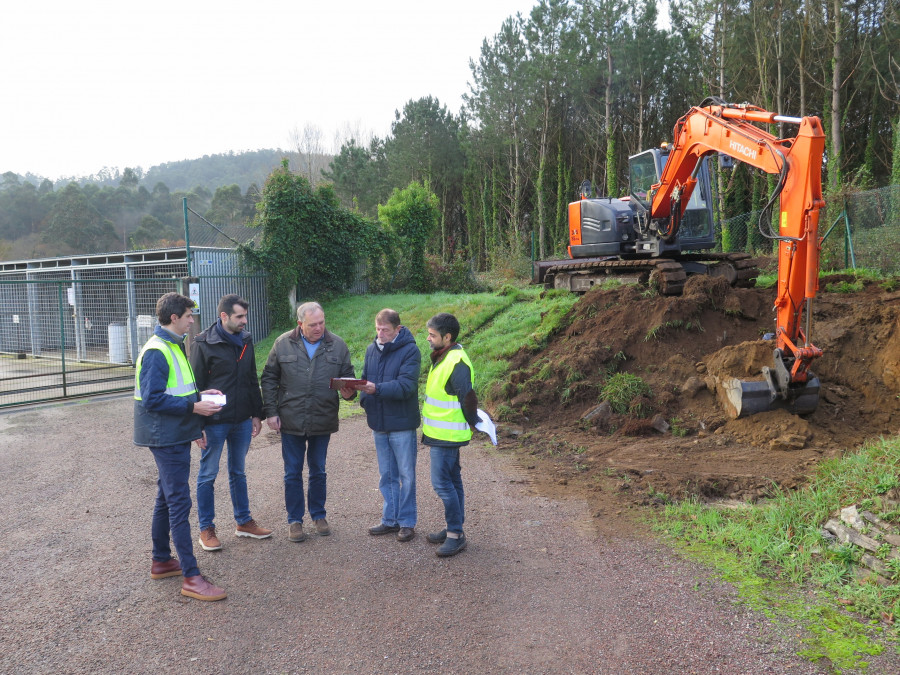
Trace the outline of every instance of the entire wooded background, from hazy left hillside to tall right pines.
{"type": "MultiPolygon", "coordinates": [[[[522,269],[531,255],[564,254],[566,204],[585,179],[597,194],[625,194],[628,157],[671,141],[677,119],[710,96],[821,117],[827,200],[839,203],[842,191],[900,183],[898,7],[672,0],[661,26],[655,0],[539,0],[484,40],[457,112],[433,97],[408,101],[386,137],[350,138],[330,162],[314,152],[317,143],[298,142],[306,168],[282,166],[262,190],[169,191],[162,182],[148,190],[124,174],[115,186],[54,190],[4,174],[0,239],[24,233],[35,252],[50,242],[74,250],[178,241],[183,196],[213,222],[266,227],[271,183],[282,204],[285,191],[300,190],[300,202],[330,213],[323,227],[339,216],[341,227],[367,228],[358,240],[380,242],[379,283],[415,283],[411,270],[447,274],[457,262],[522,269]],[[407,216],[418,220],[398,222],[407,216]],[[79,222],[85,231],[76,233],[79,222]],[[388,240],[404,244],[387,255],[388,240]]],[[[740,163],[716,170],[714,183],[720,221],[759,210],[773,188],[770,176],[740,163]]],[[[767,245],[748,234],[748,246],[767,245]]]]}

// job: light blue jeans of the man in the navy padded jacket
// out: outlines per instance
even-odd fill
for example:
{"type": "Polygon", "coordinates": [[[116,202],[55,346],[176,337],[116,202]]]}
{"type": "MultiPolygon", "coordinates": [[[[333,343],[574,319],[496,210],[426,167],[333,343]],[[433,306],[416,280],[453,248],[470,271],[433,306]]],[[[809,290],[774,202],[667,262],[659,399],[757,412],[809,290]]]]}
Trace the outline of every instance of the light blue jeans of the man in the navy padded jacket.
{"type": "Polygon", "coordinates": [[[416,430],[373,431],[375,454],[384,497],[381,522],[400,527],[416,526],[416,430]]]}

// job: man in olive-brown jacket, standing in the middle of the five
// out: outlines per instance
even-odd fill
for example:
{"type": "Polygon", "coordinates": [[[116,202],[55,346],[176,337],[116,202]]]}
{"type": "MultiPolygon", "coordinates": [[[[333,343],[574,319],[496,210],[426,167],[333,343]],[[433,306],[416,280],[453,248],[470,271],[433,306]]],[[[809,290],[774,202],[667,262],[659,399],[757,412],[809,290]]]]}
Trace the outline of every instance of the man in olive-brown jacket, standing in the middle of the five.
{"type": "MultiPolygon", "coordinates": [[[[281,432],[284,503],[288,539],[304,541],[304,456],[309,466],[309,515],[320,536],[331,534],[325,519],[325,459],[331,434],[338,430],[340,400],[331,379],[354,377],[346,343],[325,329],[325,311],[317,302],[297,308],[297,327],[280,335],[269,352],[260,384],[263,414],[270,429],[281,432]]],[[[345,399],[353,387],[340,390],[345,399]]]]}

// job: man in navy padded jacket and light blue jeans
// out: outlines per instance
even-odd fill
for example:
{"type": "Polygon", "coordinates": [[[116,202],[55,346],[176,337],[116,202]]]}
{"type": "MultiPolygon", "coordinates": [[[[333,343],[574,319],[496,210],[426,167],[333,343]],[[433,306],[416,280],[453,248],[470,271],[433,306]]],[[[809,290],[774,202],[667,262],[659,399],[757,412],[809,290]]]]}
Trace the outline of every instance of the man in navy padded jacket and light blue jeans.
{"type": "Polygon", "coordinates": [[[393,309],[375,316],[375,340],[366,349],[360,405],[375,438],[384,497],[381,523],[369,534],[397,533],[409,541],[416,527],[416,428],[419,426],[419,372],[422,354],[393,309]]]}

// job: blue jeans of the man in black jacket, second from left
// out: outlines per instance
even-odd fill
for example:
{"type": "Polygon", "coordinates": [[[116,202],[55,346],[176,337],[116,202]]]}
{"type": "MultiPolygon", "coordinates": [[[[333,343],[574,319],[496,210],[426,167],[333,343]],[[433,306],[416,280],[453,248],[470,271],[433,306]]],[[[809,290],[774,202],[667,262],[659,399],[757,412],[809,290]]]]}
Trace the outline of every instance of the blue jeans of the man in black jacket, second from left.
{"type": "Polygon", "coordinates": [[[231,504],[234,507],[234,519],[238,525],[251,520],[250,498],[247,496],[247,476],[244,466],[247,451],[250,449],[250,438],[253,433],[253,420],[249,417],[237,424],[210,424],[206,431],[206,450],[200,455],[200,470],[197,473],[197,516],[200,529],[212,527],[216,519],[216,500],[214,485],[219,474],[219,459],[222,448],[228,442],[228,487],[231,490],[231,504]]]}

